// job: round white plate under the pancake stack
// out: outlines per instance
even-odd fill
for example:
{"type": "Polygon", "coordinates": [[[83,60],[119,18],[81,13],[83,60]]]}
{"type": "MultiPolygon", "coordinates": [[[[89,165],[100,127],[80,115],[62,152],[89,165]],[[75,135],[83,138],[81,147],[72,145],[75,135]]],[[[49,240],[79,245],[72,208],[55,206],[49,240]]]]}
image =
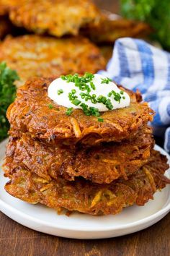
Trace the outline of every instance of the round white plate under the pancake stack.
{"type": "MultiPolygon", "coordinates": [[[[1,147],[4,150],[4,145],[1,147]]],[[[164,155],[169,155],[156,146],[164,155]]],[[[30,205],[22,202],[4,190],[4,178],[0,171],[0,210],[14,221],[27,226],[30,229],[46,234],[63,236],[76,239],[100,239],[130,234],[164,218],[170,211],[170,186],[162,192],[156,192],[154,200],[150,200],[145,206],[133,205],[126,208],[117,216],[89,216],[81,213],[73,213],[67,217],[58,216],[55,210],[43,205],[30,205]]]]}

